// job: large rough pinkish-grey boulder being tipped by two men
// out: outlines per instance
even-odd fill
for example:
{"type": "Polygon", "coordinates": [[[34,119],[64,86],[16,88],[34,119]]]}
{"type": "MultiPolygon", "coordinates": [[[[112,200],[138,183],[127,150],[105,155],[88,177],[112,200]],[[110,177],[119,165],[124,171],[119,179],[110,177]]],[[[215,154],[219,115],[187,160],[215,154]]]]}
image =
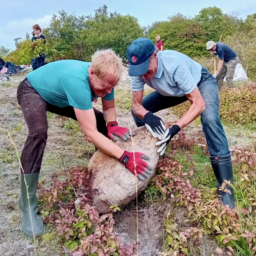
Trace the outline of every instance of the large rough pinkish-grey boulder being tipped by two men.
{"type": "Polygon", "coordinates": [[[92,189],[99,190],[99,194],[94,196],[92,205],[101,213],[111,212],[109,209],[111,205],[124,207],[136,198],[136,182],[140,193],[146,189],[154,176],[159,160],[155,146],[157,139],[152,137],[145,126],[135,129],[134,132],[136,134],[133,137],[134,148],[131,139],[127,141],[119,139],[115,143],[127,151],[142,152],[150,157],[150,160],[145,161],[152,167],[153,172],[148,179],[140,181],[116,158],[98,150],[91,158],[88,170],[92,175],[92,189]]]}

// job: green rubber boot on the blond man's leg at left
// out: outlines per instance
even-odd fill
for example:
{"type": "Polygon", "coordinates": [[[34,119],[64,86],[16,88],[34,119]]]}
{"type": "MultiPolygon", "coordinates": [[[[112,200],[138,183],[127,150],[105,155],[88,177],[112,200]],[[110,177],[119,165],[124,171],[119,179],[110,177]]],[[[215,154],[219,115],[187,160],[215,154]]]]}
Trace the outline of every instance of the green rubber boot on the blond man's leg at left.
{"type": "Polygon", "coordinates": [[[35,195],[38,188],[38,178],[39,173],[33,174],[21,174],[20,177],[20,190],[21,195],[19,198],[19,207],[21,215],[21,227],[23,233],[29,238],[34,236],[41,236],[44,234],[44,224],[40,216],[38,215],[38,198],[35,195]],[[26,183],[28,186],[29,199],[27,197],[27,190],[24,177],[26,178],[26,183]],[[30,204],[30,212],[29,212],[30,204]],[[32,220],[32,221],[31,221],[32,220]],[[32,228],[33,224],[33,228],[32,228]],[[34,236],[33,236],[34,233],[34,236]]]}

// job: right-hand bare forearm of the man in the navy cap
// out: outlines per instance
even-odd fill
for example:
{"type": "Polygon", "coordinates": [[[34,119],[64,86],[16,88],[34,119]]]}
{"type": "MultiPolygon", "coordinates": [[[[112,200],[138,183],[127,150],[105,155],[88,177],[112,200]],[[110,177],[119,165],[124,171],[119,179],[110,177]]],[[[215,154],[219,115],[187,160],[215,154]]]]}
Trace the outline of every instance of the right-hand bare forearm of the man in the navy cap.
{"type": "Polygon", "coordinates": [[[204,111],[205,103],[198,102],[192,103],[191,107],[189,108],[188,112],[181,119],[177,122],[176,125],[180,126],[180,129],[184,128],[186,125],[190,124],[194,121],[201,113],[204,111]]]}

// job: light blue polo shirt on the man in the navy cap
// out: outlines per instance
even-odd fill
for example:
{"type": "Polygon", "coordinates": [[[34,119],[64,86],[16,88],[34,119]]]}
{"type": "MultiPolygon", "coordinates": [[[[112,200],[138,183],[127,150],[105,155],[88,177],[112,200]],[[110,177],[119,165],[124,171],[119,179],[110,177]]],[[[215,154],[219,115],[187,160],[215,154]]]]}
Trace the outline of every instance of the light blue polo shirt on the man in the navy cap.
{"type": "Polygon", "coordinates": [[[143,90],[146,83],[164,96],[180,97],[191,93],[201,80],[202,66],[181,52],[160,51],[157,60],[157,73],[152,79],[130,77],[132,91],[143,90]]]}

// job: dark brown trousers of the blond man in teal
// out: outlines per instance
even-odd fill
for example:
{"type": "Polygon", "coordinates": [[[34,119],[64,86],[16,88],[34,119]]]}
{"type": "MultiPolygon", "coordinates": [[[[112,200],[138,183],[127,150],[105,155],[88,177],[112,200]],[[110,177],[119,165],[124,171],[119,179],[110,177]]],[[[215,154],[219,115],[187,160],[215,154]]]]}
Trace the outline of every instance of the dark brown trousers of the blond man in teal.
{"type": "MultiPolygon", "coordinates": [[[[47,141],[47,111],[77,121],[76,114],[71,106],[60,108],[46,102],[27,79],[21,81],[17,88],[17,101],[28,127],[27,139],[20,157],[21,164],[25,174],[39,173],[47,141]]],[[[93,110],[97,130],[107,137],[108,129],[103,113],[95,108],[93,110]]]]}

